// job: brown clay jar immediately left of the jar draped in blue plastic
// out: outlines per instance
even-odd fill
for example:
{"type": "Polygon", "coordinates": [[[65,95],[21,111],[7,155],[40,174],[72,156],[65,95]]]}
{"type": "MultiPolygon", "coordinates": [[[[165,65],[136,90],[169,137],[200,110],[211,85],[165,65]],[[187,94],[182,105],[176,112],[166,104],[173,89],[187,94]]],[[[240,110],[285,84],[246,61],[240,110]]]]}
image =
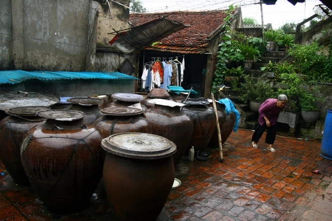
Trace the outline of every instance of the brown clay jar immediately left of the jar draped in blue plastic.
{"type": "Polygon", "coordinates": [[[188,98],[187,106],[182,111],[189,115],[194,123],[194,132],[189,147],[194,146],[195,151],[204,149],[210,143],[216,126],[216,115],[209,101],[204,98],[188,98]]]}

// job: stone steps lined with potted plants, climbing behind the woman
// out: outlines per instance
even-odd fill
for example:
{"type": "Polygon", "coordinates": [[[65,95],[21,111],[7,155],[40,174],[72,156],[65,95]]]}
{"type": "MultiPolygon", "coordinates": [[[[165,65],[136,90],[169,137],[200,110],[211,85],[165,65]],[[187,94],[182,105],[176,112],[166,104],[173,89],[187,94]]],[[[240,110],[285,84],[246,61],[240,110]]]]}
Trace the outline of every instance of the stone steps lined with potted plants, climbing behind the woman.
{"type": "MultiPolygon", "coordinates": [[[[261,71],[261,67],[265,66],[270,60],[271,62],[279,62],[287,59],[288,52],[285,51],[266,51],[266,53],[259,58],[258,62],[253,63],[250,70],[246,70],[244,74],[253,75],[254,77],[261,77],[265,75],[261,71]]],[[[238,96],[243,93],[242,90],[232,89],[230,85],[226,83],[226,86],[219,91],[220,98],[229,98],[237,111],[240,114],[239,128],[255,130],[258,126],[258,113],[252,112],[249,103],[243,103],[238,99],[238,96]]]]}

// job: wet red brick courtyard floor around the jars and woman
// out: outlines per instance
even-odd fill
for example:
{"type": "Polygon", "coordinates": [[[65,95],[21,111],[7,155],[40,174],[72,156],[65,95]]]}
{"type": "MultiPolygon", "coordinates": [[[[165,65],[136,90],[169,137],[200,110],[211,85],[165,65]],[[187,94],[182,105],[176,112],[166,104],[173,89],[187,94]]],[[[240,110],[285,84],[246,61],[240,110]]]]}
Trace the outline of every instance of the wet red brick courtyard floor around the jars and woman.
{"type": "MultiPolygon", "coordinates": [[[[252,133],[233,132],[223,145],[223,162],[216,148],[208,148],[208,161],[182,159],[176,168],[182,185],[171,190],[157,220],[303,220],[324,198],[332,161],[319,155],[319,140],[278,136],[271,153],[265,135],[252,148],[252,133]],[[312,173],[316,169],[321,174],[312,173]]],[[[0,220],[113,220],[103,180],[87,208],[54,214],[31,187],[15,184],[2,163],[0,173],[0,220]]]]}

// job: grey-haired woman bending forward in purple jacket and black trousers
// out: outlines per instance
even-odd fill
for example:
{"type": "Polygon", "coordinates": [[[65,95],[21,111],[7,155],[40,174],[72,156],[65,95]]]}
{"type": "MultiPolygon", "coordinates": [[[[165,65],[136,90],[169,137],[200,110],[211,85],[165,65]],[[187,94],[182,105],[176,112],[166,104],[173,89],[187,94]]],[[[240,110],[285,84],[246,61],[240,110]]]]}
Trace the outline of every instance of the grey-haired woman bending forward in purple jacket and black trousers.
{"type": "Polygon", "coordinates": [[[256,128],[252,141],[253,148],[258,148],[257,143],[262,137],[266,128],[268,132],[266,134],[265,143],[269,144],[268,150],[271,152],[276,152],[272,147],[277,135],[277,120],[279,113],[287,104],[287,96],[285,94],[280,94],[278,98],[269,98],[265,100],[259,108],[259,118],[258,118],[258,127],[256,128]]]}

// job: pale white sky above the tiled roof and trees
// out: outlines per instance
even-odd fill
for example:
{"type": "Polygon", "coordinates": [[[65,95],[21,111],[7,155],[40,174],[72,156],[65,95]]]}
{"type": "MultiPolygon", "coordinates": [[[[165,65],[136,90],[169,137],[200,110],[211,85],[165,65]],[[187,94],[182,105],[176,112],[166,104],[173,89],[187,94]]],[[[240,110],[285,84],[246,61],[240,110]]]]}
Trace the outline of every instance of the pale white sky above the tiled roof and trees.
{"type": "MultiPolygon", "coordinates": [[[[203,11],[226,10],[234,3],[240,6],[242,18],[253,18],[262,24],[259,0],[140,0],[149,13],[171,11],[203,11]]],[[[293,6],[287,0],[277,0],[276,5],[263,4],[264,24],[271,23],[273,29],[278,29],[286,23],[300,23],[314,15],[313,7],[322,4],[318,0],[306,0],[293,6]]]]}

